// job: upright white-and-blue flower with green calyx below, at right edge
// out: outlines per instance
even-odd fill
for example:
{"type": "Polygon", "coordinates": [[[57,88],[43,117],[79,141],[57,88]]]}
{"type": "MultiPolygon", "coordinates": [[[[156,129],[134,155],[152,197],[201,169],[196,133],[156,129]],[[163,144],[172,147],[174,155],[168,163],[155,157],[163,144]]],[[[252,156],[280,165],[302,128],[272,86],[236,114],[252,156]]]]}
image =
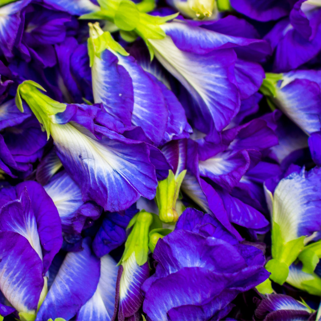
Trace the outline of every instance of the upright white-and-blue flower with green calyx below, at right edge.
{"type": "Polygon", "coordinates": [[[270,279],[279,284],[287,279],[289,266],[300,255],[304,245],[320,230],[317,211],[321,188],[319,176],[319,169],[307,172],[303,168],[300,173],[293,172],[283,178],[273,195],[265,188],[272,215],[273,258],[267,262],[266,269],[272,273],[270,279]]]}

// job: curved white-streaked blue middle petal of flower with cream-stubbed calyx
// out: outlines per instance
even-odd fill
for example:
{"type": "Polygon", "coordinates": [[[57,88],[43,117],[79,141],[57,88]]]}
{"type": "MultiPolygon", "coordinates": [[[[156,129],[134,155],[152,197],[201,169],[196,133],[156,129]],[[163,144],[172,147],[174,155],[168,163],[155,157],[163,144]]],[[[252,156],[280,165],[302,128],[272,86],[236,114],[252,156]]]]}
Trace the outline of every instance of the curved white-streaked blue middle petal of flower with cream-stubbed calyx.
{"type": "Polygon", "coordinates": [[[129,73],[134,88],[134,109],[132,123],[141,126],[147,135],[158,145],[165,133],[168,110],[160,86],[137,64],[131,56],[117,55],[118,64],[129,73]]]}

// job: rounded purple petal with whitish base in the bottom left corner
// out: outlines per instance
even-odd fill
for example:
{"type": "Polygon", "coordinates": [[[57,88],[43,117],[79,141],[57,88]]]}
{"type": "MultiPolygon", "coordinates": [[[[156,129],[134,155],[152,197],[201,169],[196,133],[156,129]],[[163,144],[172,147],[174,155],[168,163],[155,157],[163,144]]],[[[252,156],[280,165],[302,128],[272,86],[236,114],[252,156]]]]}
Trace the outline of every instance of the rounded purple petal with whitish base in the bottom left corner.
{"type": "Polygon", "coordinates": [[[0,289],[18,312],[35,314],[44,285],[41,259],[29,241],[14,232],[0,232],[0,289]]]}

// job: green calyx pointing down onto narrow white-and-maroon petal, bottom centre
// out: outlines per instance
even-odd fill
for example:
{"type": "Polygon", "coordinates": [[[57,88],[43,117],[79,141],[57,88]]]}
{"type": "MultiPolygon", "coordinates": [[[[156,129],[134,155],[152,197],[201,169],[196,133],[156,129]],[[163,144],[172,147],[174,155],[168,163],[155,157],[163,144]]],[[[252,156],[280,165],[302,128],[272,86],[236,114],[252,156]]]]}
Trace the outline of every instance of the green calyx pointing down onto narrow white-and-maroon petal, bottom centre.
{"type": "Polygon", "coordinates": [[[125,251],[118,265],[127,260],[133,252],[138,265],[143,265],[148,259],[148,233],[153,216],[145,210],[137,213],[129,222],[127,228],[133,226],[125,243],[125,251]]]}

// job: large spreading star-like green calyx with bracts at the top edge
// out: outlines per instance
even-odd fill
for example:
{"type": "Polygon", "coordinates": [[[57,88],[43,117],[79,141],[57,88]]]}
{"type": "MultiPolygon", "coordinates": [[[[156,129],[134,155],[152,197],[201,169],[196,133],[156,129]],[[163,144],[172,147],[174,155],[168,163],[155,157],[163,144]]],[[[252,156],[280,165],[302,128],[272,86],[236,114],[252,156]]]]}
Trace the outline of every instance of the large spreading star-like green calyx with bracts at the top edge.
{"type": "MultiPolygon", "coordinates": [[[[160,17],[146,12],[153,8],[154,1],[145,0],[135,4],[130,0],[100,0],[100,11],[82,15],[80,19],[108,20],[119,28],[120,35],[126,41],[134,41],[138,36],[144,39],[153,57],[152,46],[148,39],[164,39],[165,32],[160,27],[178,16],[178,13],[160,17]]],[[[122,54],[122,53],[121,53],[122,54]]]]}

